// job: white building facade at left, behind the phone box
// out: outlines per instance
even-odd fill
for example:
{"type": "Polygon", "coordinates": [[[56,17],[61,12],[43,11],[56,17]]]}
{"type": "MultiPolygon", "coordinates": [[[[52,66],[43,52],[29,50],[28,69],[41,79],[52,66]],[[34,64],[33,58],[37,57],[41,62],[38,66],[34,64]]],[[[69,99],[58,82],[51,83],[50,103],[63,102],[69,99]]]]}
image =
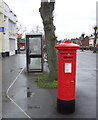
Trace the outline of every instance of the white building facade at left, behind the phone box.
{"type": "Polygon", "coordinates": [[[2,57],[15,55],[17,53],[17,16],[9,6],[2,1],[2,24],[4,26],[2,44],[0,46],[2,57]]]}

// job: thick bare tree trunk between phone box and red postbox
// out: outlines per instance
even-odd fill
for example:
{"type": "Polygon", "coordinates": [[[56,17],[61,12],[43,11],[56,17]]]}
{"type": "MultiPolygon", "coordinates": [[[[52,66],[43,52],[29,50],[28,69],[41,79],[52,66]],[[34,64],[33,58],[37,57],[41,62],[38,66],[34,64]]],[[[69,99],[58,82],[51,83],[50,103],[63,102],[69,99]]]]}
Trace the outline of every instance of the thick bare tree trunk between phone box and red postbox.
{"type": "Polygon", "coordinates": [[[48,55],[48,64],[49,64],[49,76],[48,80],[56,80],[57,79],[57,56],[56,50],[54,49],[56,43],[55,36],[55,26],[53,24],[53,11],[55,6],[55,0],[46,0],[46,2],[41,0],[41,7],[39,8],[39,12],[44,25],[45,32],[45,40],[46,40],[46,51],[48,55]]]}

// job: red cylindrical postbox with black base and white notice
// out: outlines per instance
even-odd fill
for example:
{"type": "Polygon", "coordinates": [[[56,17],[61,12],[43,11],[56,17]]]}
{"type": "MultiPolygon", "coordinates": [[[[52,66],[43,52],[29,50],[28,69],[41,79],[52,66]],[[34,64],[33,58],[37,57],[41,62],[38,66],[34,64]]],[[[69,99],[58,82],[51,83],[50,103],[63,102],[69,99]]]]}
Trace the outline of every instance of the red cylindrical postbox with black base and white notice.
{"type": "Polygon", "coordinates": [[[80,46],[67,40],[55,48],[58,50],[57,111],[71,114],[75,111],[76,50],[80,46]]]}

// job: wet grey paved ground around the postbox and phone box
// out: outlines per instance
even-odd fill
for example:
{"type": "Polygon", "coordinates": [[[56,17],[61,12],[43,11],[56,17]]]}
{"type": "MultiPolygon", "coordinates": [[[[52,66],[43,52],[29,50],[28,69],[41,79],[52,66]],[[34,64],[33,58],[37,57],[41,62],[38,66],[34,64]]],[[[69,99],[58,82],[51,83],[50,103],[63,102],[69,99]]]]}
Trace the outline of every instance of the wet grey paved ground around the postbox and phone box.
{"type": "MultiPolygon", "coordinates": [[[[76,109],[75,113],[70,115],[57,112],[56,88],[38,88],[35,81],[39,73],[26,72],[25,54],[3,58],[3,118],[96,118],[97,56],[98,54],[92,51],[77,52],[76,109]],[[30,88],[31,97],[27,97],[27,87],[30,88]]],[[[48,72],[46,63],[44,71],[48,72]]]]}

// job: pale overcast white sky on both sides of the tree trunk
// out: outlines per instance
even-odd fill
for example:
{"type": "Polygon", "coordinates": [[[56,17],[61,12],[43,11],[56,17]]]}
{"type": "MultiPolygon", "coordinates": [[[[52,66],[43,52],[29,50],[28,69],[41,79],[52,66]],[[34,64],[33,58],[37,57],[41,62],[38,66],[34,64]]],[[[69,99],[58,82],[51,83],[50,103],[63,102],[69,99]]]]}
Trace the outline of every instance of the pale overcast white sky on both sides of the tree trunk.
{"type": "MultiPolygon", "coordinates": [[[[30,32],[35,26],[43,28],[39,13],[41,0],[4,0],[17,15],[18,24],[30,32]]],[[[97,0],[55,0],[54,25],[58,40],[90,36],[96,25],[97,0]]]]}

